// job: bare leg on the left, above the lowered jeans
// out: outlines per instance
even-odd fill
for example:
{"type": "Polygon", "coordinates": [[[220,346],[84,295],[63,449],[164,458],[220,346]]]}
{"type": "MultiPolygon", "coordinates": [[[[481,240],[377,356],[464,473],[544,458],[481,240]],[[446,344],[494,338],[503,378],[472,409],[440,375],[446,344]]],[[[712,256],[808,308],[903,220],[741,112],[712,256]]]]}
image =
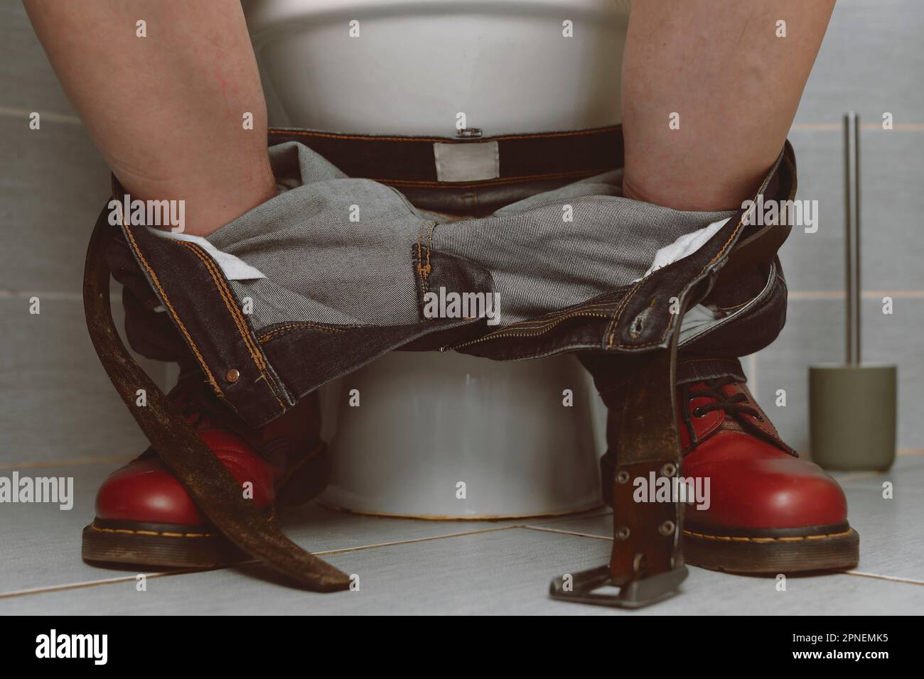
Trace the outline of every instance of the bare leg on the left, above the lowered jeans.
{"type": "Polygon", "coordinates": [[[133,198],[185,200],[186,232],[207,235],[274,195],[266,103],[239,0],[24,4],[133,198]],[[253,129],[244,129],[247,112],[253,129]]]}

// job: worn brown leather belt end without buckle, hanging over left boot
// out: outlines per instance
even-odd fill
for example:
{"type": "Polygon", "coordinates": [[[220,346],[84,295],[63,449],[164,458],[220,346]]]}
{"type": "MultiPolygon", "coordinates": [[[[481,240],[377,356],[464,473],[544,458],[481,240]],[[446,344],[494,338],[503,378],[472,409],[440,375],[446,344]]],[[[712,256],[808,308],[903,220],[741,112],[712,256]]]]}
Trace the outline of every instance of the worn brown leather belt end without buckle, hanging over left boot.
{"type": "Polygon", "coordinates": [[[83,273],[83,305],[93,347],[132,417],[164,466],[180,480],[202,513],[239,549],[305,588],[314,591],[348,588],[346,574],[286,538],[244,498],[237,480],[122,344],[109,299],[105,252],[116,235],[116,227],[108,223],[108,216],[104,208],[90,238],[83,273]],[[135,405],[139,389],[147,393],[147,406],[135,405]]]}

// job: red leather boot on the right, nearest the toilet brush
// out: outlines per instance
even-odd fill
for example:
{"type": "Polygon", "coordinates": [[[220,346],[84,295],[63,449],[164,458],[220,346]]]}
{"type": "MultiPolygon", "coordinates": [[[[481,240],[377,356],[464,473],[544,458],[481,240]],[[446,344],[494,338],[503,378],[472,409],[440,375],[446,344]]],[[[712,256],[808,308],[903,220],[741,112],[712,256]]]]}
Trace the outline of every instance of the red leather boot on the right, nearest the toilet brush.
{"type": "MultiPolygon", "coordinates": [[[[700,495],[687,500],[688,564],[770,574],[857,565],[859,536],[847,523],[844,491],[783,443],[743,382],[683,384],[677,409],[682,476],[700,495]]],[[[614,408],[610,416],[615,450],[614,408]]],[[[601,465],[604,499],[612,506],[613,455],[601,465]]]]}

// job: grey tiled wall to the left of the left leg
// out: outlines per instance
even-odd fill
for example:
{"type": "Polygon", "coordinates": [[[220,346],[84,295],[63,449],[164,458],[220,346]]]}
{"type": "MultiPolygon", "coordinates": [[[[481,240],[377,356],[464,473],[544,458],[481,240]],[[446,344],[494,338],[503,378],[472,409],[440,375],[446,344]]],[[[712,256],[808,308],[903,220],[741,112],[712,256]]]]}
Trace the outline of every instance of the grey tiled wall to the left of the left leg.
{"type": "MultiPolygon", "coordinates": [[[[0,163],[0,468],[137,455],[146,441],[100,366],[80,293],[109,171],[18,0],[0,0],[0,163]]],[[[120,297],[113,307],[120,321],[120,297]]],[[[143,365],[163,382],[164,364],[143,365]]]]}

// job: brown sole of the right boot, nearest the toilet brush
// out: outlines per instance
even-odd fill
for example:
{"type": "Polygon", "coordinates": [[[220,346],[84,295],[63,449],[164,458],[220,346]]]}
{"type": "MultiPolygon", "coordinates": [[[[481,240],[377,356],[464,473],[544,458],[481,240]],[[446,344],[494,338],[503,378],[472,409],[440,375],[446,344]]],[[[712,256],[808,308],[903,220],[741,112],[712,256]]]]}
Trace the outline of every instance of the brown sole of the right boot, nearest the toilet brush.
{"type": "Polygon", "coordinates": [[[789,574],[848,570],[859,561],[860,536],[852,527],[807,527],[801,530],[719,534],[684,527],[684,560],[712,571],[789,574]]]}

